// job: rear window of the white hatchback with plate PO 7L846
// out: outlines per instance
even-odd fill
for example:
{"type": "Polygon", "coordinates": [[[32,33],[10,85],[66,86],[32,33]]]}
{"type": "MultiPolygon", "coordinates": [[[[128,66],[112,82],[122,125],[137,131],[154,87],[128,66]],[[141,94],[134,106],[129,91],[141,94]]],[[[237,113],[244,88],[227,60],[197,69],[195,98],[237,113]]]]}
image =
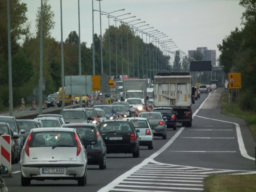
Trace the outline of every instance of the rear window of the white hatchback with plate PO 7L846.
{"type": "Polygon", "coordinates": [[[33,132],[29,147],[76,147],[74,132],[33,132]]]}

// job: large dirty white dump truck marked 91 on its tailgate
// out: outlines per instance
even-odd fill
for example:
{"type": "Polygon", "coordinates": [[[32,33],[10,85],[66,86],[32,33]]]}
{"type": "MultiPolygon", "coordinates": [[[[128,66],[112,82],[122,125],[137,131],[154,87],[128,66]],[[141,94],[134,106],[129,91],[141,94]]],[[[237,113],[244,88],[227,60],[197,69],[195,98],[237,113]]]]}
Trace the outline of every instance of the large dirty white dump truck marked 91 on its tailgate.
{"type": "Polygon", "coordinates": [[[170,107],[176,122],[192,126],[192,77],[190,72],[158,72],[154,76],[154,107],[170,107]]]}

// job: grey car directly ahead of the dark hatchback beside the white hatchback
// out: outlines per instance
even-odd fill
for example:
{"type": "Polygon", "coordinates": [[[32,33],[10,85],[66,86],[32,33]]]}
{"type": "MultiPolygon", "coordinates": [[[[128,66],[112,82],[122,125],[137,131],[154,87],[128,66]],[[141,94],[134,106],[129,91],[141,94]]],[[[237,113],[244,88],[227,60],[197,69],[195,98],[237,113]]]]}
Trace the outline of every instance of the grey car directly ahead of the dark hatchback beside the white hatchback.
{"type": "Polygon", "coordinates": [[[62,109],[60,115],[64,118],[65,123],[88,123],[93,121],[93,118],[88,117],[83,108],[62,109]]]}

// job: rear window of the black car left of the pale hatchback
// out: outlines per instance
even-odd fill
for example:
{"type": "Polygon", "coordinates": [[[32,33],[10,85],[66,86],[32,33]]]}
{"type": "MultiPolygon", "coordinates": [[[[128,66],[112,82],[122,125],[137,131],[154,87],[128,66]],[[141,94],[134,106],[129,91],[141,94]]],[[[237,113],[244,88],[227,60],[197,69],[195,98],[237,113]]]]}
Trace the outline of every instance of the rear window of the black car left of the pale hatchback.
{"type": "Polygon", "coordinates": [[[100,124],[100,132],[128,132],[132,133],[132,126],[128,122],[103,122],[100,124]]]}

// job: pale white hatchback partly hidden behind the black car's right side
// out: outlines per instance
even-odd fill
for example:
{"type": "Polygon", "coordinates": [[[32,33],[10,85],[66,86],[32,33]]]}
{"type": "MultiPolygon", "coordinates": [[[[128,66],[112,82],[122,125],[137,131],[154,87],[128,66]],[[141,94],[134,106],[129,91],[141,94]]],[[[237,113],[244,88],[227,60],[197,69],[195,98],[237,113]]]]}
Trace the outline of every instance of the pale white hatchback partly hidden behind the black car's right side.
{"type": "Polygon", "coordinates": [[[153,149],[153,132],[150,128],[148,119],[143,117],[130,117],[124,119],[129,119],[136,131],[140,130],[139,132],[137,131],[140,138],[140,146],[148,146],[148,149],[153,149]]]}

